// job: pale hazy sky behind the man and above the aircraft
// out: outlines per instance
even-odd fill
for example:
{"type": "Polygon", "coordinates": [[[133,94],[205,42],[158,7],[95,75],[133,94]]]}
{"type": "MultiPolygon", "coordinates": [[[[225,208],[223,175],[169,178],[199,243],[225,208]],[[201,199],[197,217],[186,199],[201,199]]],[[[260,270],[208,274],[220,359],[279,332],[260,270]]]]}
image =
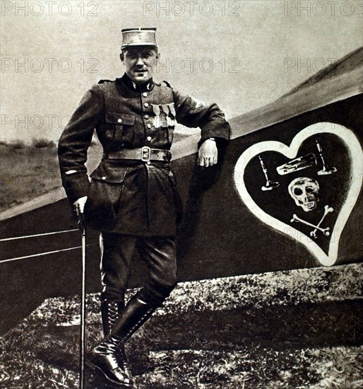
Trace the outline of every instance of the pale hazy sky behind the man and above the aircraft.
{"type": "Polygon", "coordinates": [[[218,103],[266,105],[363,45],[363,2],[1,1],[1,141],[57,141],[82,95],[124,73],[121,28],[156,27],[155,80],[218,103]]]}

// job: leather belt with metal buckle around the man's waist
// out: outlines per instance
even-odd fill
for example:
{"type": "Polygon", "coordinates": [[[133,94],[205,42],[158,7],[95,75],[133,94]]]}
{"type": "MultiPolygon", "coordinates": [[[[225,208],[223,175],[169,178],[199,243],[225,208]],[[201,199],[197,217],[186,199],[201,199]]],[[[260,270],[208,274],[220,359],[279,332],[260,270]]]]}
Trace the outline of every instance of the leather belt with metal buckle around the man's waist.
{"type": "Polygon", "coordinates": [[[172,153],[164,149],[151,149],[149,146],[143,146],[138,149],[121,149],[110,151],[105,158],[109,159],[136,159],[143,162],[164,161],[169,162],[172,159],[172,153]]]}

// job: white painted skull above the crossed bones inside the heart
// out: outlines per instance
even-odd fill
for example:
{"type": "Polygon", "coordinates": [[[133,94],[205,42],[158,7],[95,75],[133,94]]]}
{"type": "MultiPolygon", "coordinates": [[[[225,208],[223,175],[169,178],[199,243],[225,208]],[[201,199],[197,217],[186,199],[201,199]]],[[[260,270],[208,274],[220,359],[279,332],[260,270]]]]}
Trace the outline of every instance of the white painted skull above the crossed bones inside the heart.
{"type": "Polygon", "coordinates": [[[308,177],[295,178],[288,187],[290,196],[305,212],[316,209],[319,202],[319,182],[308,177]]]}

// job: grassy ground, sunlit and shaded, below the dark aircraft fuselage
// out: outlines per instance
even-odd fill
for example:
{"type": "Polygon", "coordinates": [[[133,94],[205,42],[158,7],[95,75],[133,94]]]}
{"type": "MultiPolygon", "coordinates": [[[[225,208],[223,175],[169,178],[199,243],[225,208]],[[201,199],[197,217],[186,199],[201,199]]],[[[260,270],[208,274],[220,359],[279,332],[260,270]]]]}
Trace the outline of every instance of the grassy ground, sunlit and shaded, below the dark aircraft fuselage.
{"type": "MultiPolygon", "coordinates": [[[[127,344],[136,386],[363,388],[362,276],[355,264],[179,284],[127,344]]],[[[0,388],[78,388],[78,323],[78,298],[52,298],[0,338],[0,388]]],[[[112,388],[91,371],[86,382],[112,388]]]]}

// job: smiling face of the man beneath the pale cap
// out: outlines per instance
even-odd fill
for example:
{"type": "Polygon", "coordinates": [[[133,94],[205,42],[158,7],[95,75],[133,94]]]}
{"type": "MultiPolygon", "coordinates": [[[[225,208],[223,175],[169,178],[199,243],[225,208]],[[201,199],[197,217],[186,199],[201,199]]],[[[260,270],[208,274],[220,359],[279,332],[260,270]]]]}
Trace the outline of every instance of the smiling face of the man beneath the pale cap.
{"type": "Polygon", "coordinates": [[[134,83],[145,83],[153,77],[159,54],[153,47],[136,46],[124,50],[120,58],[130,79],[134,83]]]}

